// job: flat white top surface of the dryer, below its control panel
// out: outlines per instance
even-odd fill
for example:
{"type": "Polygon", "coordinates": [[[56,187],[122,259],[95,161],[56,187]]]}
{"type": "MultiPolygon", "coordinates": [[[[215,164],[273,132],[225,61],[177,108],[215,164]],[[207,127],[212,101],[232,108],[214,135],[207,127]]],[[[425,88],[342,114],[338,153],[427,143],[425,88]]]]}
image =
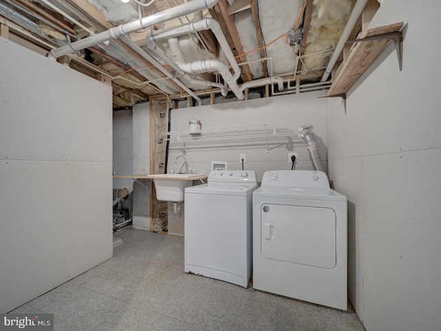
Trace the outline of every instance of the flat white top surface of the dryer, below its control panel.
{"type": "Polygon", "coordinates": [[[253,192],[253,197],[347,201],[345,195],[338,193],[331,188],[287,188],[260,186],[260,188],[253,192]]]}

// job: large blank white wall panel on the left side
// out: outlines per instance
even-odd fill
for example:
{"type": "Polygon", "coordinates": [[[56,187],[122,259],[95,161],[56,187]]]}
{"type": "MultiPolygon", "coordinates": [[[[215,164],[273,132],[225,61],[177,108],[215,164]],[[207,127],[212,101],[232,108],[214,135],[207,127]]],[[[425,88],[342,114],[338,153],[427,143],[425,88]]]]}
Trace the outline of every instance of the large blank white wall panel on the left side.
{"type": "Polygon", "coordinates": [[[112,87],[1,37],[0,50],[5,313],[112,257],[112,87]]]}

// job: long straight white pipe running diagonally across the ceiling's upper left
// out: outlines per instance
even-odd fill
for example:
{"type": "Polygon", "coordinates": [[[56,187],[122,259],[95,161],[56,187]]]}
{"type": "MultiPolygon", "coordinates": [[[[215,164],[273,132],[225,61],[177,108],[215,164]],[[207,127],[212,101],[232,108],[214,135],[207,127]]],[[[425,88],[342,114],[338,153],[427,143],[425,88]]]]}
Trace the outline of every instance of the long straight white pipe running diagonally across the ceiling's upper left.
{"type": "Polygon", "coordinates": [[[205,8],[213,8],[217,2],[218,0],[193,0],[183,3],[182,5],[163,10],[162,12],[157,12],[156,14],[143,17],[141,20],[137,19],[136,21],[132,21],[130,23],[121,24],[120,26],[116,26],[99,34],[95,34],[93,36],[80,39],[79,41],[75,41],[74,43],[70,43],[67,46],[56,48],[50,51],[48,57],[50,59],[57,59],[65,54],[75,52],[76,50],[83,50],[84,48],[103,43],[104,41],[110,39],[127,36],[127,34],[132,32],[149,28],[150,26],[169,21],[170,19],[176,19],[177,17],[184,16],[191,12],[196,12],[205,8]]]}

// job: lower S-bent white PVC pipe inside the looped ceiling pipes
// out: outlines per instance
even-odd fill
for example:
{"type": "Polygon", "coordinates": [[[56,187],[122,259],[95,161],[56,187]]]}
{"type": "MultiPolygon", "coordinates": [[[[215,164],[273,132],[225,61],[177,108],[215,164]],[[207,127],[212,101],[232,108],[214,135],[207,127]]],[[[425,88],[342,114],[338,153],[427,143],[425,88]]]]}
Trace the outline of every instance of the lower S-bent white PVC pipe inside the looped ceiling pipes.
{"type": "Polygon", "coordinates": [[[183,56],[181,48],[179,48],[179,42],[176,38],[169,39],[170,50],[172,51],[173,58],[176,65],[185,72],[203,72],[206,70],[216,70],[219,72],[225,83],[228,84],[229,88],[232,89],[238,100],[244,100],[245,95],[240,91],[240,88],[236,82],[236,78],[233,77],[232,73],[229,71],[227,64],[219,59],[205,59],[196,60],[192,62],[183,63],[183,56]]]}

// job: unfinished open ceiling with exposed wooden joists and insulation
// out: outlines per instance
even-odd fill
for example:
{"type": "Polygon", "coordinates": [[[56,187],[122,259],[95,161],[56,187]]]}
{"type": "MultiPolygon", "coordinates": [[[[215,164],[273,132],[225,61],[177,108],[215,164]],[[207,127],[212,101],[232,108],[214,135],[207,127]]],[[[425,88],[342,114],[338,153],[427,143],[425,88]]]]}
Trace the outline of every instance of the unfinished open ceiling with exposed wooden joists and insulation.
{"type": "MultiPolygon", "coordinates": [[[[208,0],[191,2],[208,3],[208,0]]],[[[156,13],[162,14],[176,6],[186,9],[189,3],[187,0],[154,0],[150,6],[141,7],[134,0],[129,3],[121,0],[0,0],[0,24],[8,26],[14,40],[25,39],[23,45],[30,42],[48,52],[69,42],[76,45],[78,40],[91,38],[92,30],[100,34],[144,17],[150,19],[156,13]]],[[[259,89],[270,84],[271,80],[261,80],[265,77],[285,80],[286,88],[283,91],[276,88],[271,90],[272,93],[293,93],[296,92],[291,86],[293,81],[320,85],[322,72],[355,3],[356,0],[218,0],[214,8],[196,12],[183,9],[185,16],[178,19],[154,24],[151,28],[141,26],[127,37],[77,50],[76,55],[83,58],[81,61],[78,58],[76,61],[60,58],[58,61],[91,77],[102,79],[100,77],[104,75],[110,79],[115,109],[131,107],[152,96],[183,100],[189,95],[197,99],[196,94],[209,97],[212,92],[218,97],[222,86],[228,89],[227,98],[234,97],[234,94],[240,97],[245,86],[259,89]],[[157,34],[210,16],[220,23],[220,34],[226,43],[224,48],[238,62],[240,77],[232,70],[234,61],[231,58],[227,63],[225,58],[218,58],[220,41],[209,29],[177,36],[178,47],[190,68],[187,68],[190,80],[146,46],[145,37],[152,34],[152,29],[157,34]],[[296,35],[299,38],[296,40],[302,42],[301,48],[300,44],[294,48],[289,38],[294,28],[304,29],[302,34],[296,35]],[[217,71],[220,69],[214,70],[219,63],[216,62],[216,66],[211,63],[219,59],[229,66],[229,74],[234,76],[231,82],[223,80],[225,70],[222,77],[217,71]],[[196,67],[199,69],[191,69],[196,67]],[[199,79],[199,83],[194,83],[194,79],[199,79]],[[201,85],[201,81],[205,83],[201,85]],[[234,94],[231,91],[234,88],[227,86],[227,81],[238,89],[234,94]],[[210,87],[213,83],[216,87],[210,87]]],[[[369,3],[378,8],[376,0],[369,0],[369,3]]],[[[167,40],[156,41],[156,46],[174,61],[167,40]]],[[[318,88],[329,88],[329,81],[325,83],[318,88]]]]}

